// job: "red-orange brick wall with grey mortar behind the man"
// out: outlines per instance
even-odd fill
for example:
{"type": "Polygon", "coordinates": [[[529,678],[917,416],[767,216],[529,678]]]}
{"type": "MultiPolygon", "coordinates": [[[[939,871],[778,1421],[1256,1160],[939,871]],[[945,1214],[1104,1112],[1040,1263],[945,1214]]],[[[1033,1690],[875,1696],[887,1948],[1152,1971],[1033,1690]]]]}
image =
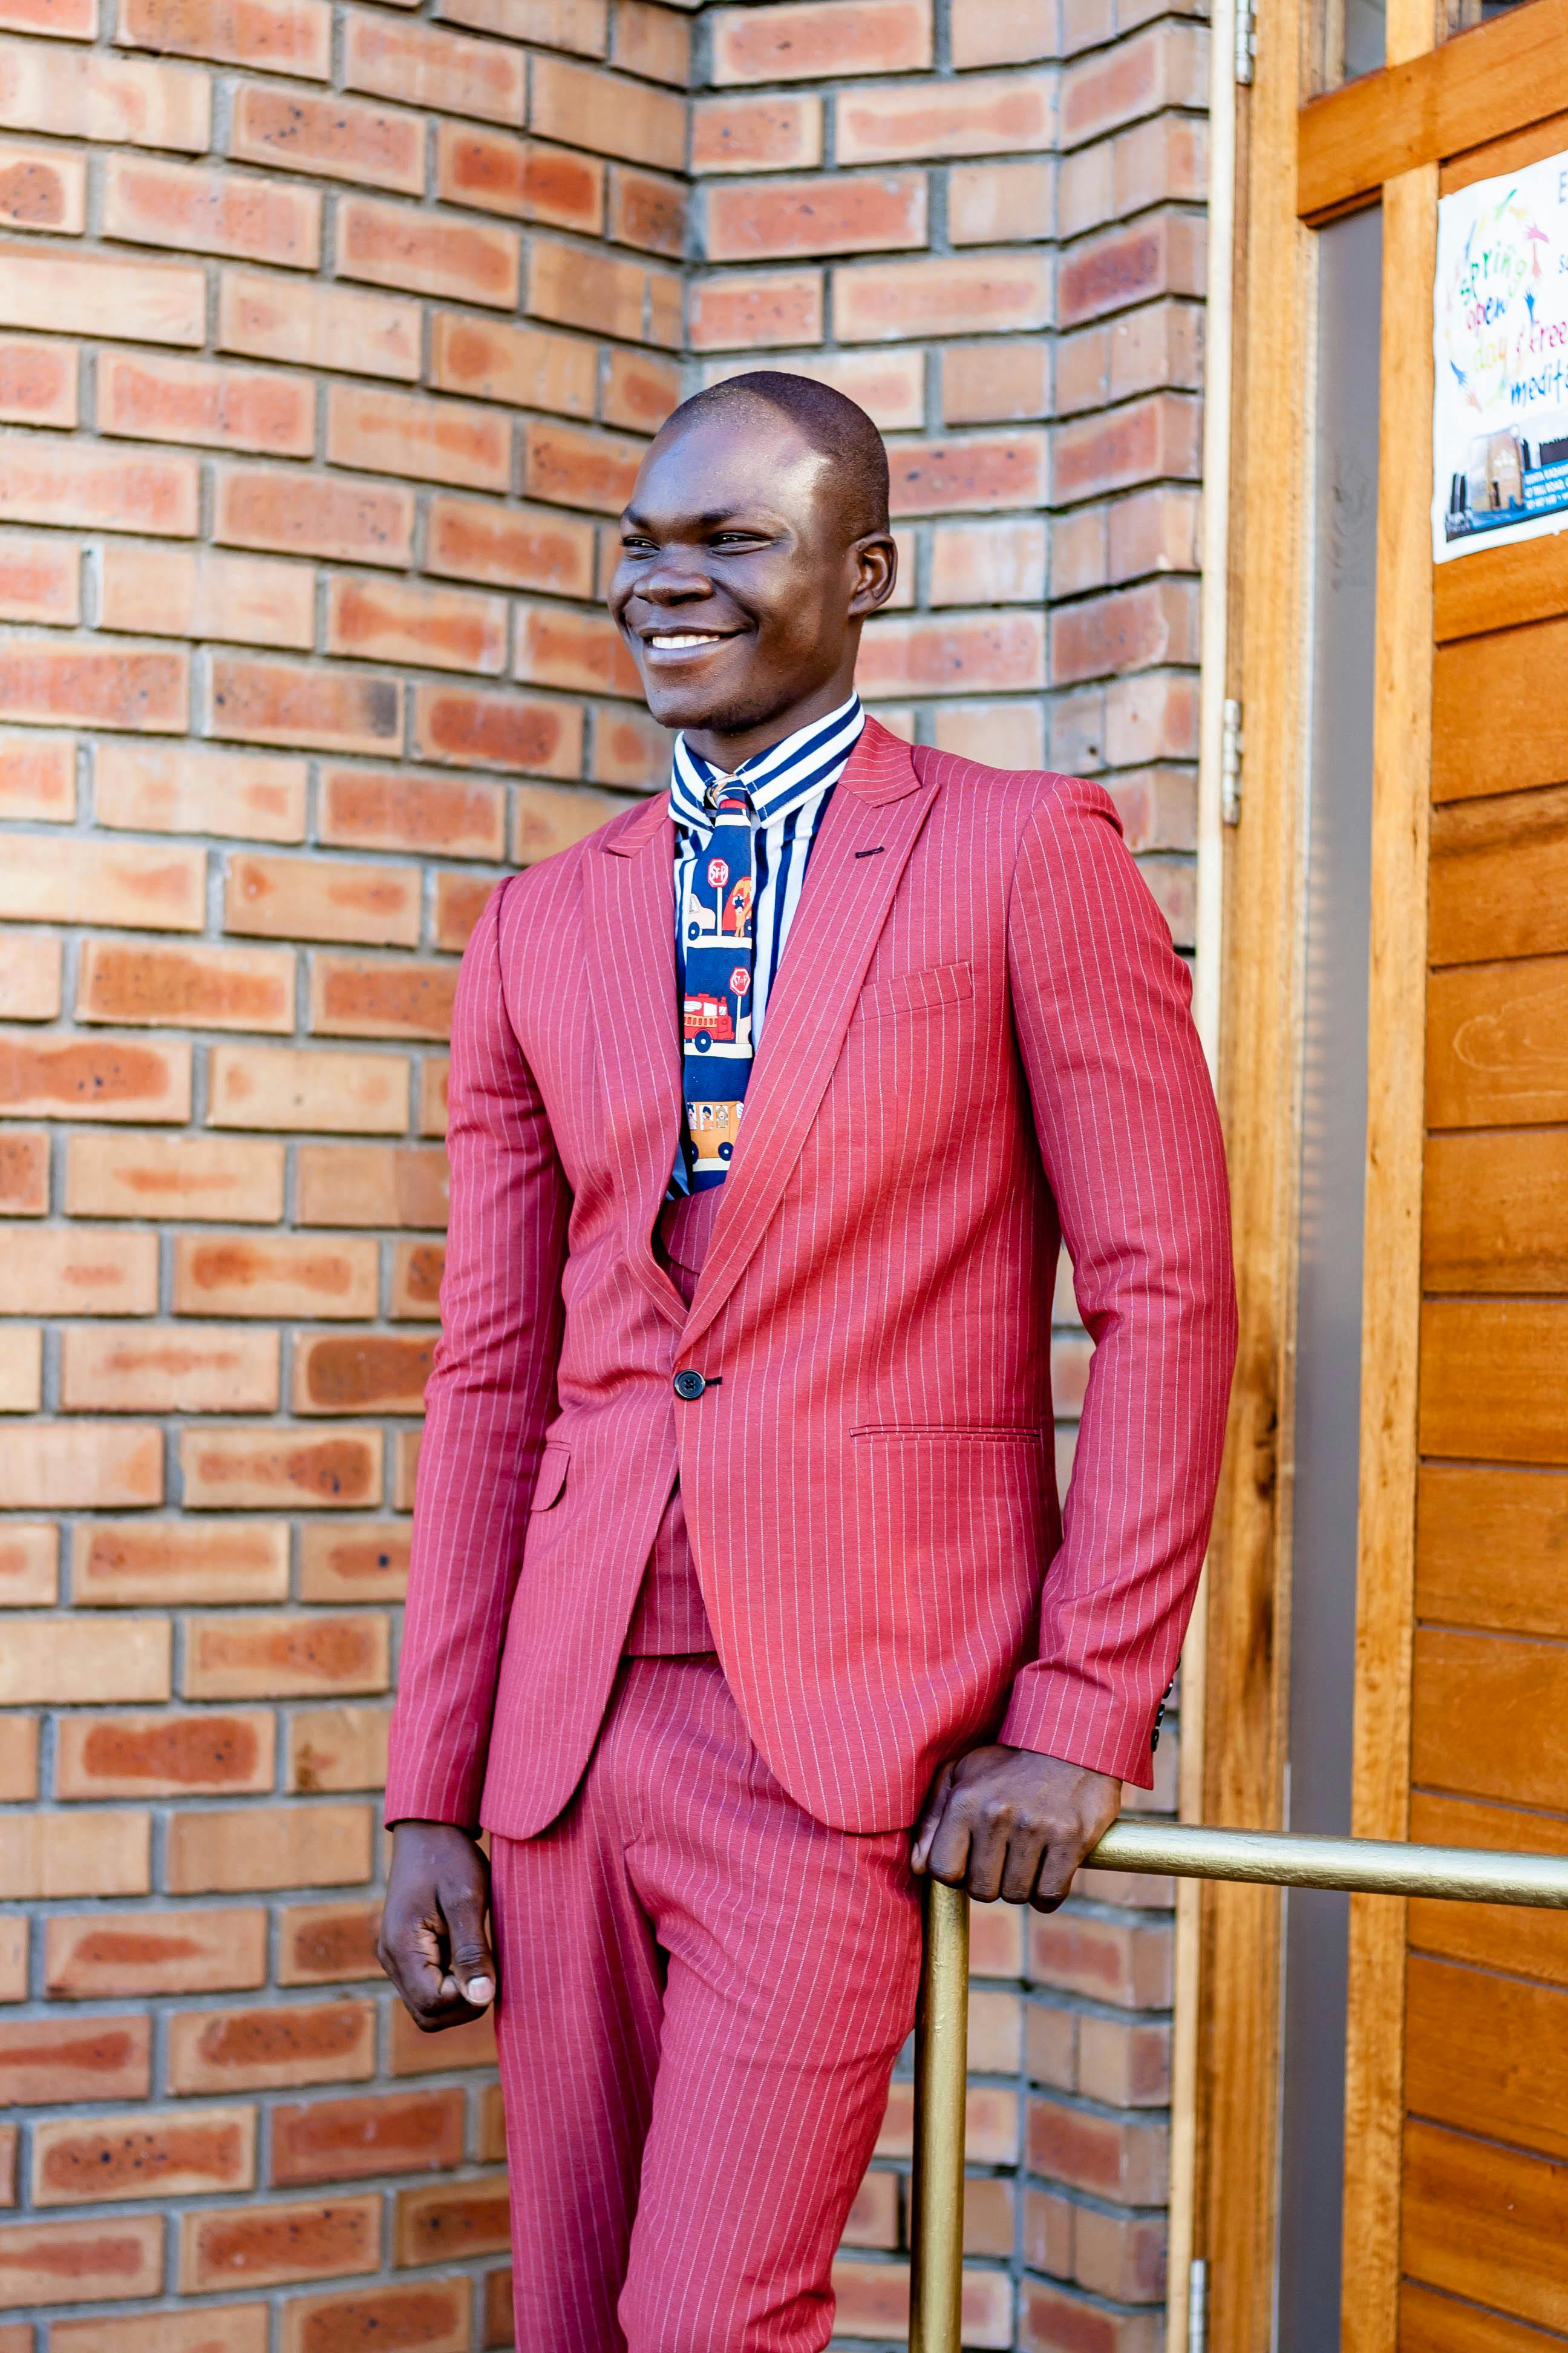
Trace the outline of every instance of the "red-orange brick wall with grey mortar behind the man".
{"type": "MultiPolygon", "coordinates": [[[[658,781],[607,518],[759,358],[889,433],[867,696],[1103,774],[1185,944],[1204,33],[0,24],[0,2353],[501,2344],[484,2033],[369,1958],[456,955],[658,781]]],[[[1159,2339],[1166,1904],[976,1920],[978,2346],[1159,2339]]],[[[907,2132],[844,2341],[903,2334],[907,2132]]]]}

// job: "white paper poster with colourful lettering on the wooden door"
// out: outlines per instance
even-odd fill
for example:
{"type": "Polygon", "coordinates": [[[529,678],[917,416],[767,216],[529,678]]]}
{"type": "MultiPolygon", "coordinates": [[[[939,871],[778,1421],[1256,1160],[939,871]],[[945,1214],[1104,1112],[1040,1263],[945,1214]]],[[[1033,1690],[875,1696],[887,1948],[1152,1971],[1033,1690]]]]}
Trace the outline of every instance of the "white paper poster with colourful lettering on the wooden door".
{"type": "Polygon", "coordinates": [[[1568,529],[1568,155],[1436,207],[1432,555],[1568,529]]]}

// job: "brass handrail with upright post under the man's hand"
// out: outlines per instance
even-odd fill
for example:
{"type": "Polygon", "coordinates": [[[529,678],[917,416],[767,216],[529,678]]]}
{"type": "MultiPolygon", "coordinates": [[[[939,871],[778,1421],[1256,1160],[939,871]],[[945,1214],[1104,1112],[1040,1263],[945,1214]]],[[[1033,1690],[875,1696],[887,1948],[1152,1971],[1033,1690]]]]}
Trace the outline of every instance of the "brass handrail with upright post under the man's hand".
{"type": "MultiPolygon", "coordinates": [[[[1095,1871],[1262,1880],[1352,1894],[1535,1904],[1568,1911],[1568,1857],[1406,1847],[1389,1838],[1305,1838],[1121,1819],[1084,1857],[1095,1871]]],[[[914,2021],[914,2195],[910,2353],[959,2353],[964,2297],[964,2089],[969,2075],[969,1897],[926,1880],[914,2021]]]]}

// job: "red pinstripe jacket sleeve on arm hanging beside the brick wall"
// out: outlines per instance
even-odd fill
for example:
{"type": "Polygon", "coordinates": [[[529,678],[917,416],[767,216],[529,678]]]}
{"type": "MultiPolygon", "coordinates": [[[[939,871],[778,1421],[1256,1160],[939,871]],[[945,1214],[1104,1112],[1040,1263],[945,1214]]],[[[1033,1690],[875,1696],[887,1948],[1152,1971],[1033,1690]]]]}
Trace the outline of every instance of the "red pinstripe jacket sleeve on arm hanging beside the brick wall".
{"type": "Polygon", "coordinates": [[[555,1407],[571,1195],[501,986],[503,885],[451,1014],[451,1219],[425,1391],[386,1819],[475,1828],[505,1619],[555,1407]]]}

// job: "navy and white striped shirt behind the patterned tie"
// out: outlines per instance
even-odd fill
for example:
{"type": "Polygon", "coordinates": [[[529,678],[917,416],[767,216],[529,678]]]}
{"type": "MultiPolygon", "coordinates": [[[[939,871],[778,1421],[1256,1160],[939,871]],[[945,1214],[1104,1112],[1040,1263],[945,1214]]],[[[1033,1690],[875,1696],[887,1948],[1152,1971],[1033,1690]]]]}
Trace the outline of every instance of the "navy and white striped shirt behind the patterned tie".
{"type": "MultiPolygon", "coordinates": [[[[865,727],[860,696],[830,711],[825,720],[797,727],[783,744],[771,744],[752,760],[743,760],[733,774],[745,786],[752,805],[752,854],[757,873],[757,899],[752,927],[757,939],[752,972],[752,1052],[762,1042],[769,993],[778,979],[795,908],[806,880],[806,859],[823,821],[827,795],[844,774],[849,755],[865,727]]],[[[717,786],[724,769],[712,767],[691,751],[684,734],[675,739],[670,765],[670,816],[675,819],[675,984],[677,1000],[686,995],[686,939],[679,911],[686,904],[686,885],[698,856],[705,856],[712,840],[717,786]],[[712,793],[712,800],[708,798],[712,793]]],[[[670,1193],[689,1193],[686,1136],[675,1158],[670,1193]]]]}

